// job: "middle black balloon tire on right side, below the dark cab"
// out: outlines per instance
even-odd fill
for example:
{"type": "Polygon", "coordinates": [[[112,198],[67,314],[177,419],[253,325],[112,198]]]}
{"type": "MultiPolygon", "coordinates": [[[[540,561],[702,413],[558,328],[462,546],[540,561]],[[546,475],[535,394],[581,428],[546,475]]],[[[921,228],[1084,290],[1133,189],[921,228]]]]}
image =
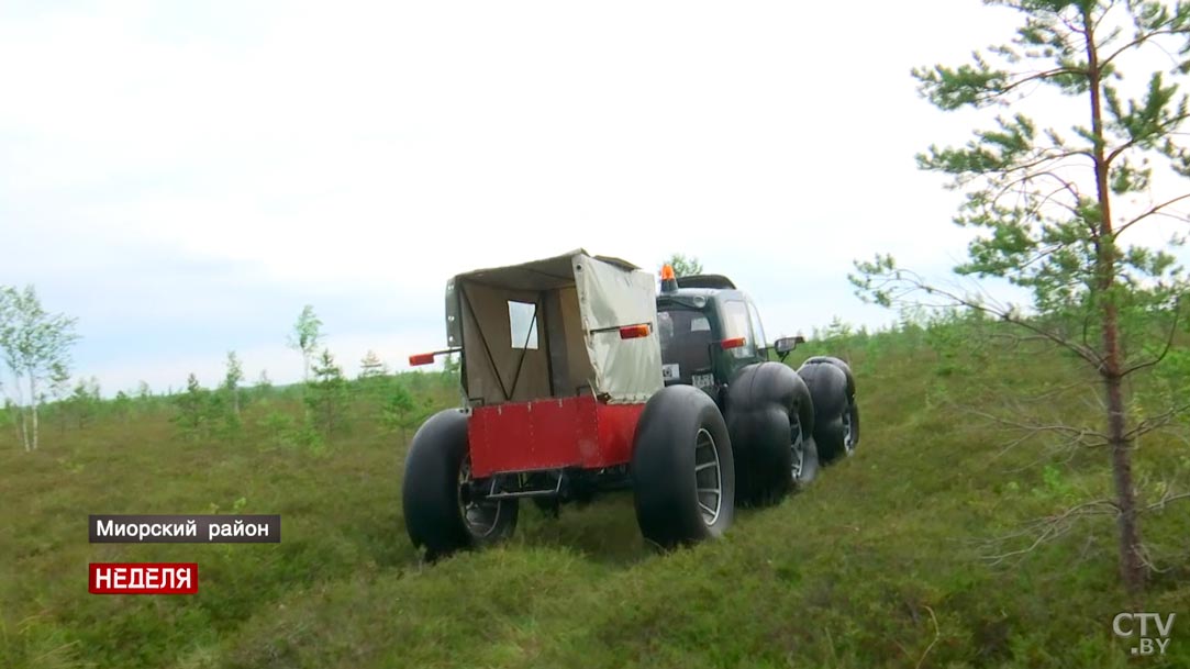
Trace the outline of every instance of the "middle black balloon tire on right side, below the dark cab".
{"type": "Polygon", "coordinates": [[[818,476],[814,404],[793,369],[776,362],[745,367],[728,384],[725,404],[741,505],[775,504],[818,476]]]}

